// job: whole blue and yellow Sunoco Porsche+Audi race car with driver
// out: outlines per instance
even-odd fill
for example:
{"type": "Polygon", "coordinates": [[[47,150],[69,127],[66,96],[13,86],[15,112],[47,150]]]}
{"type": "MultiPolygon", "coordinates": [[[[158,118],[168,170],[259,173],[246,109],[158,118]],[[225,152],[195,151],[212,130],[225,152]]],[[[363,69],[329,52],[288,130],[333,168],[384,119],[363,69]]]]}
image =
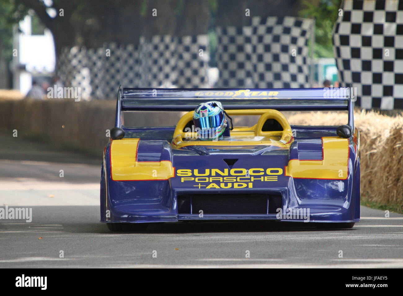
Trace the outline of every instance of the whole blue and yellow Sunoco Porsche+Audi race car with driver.
{"type": "Polygon", "coordinates": [[[100,215],[128,225],[278,220],[351,228],[359,221],[359,131],[349,88],[120,88],[104,149],[100,215]],[[285,111],[346,110],[342,126],[290,126],[285,111]],[[186,112],[176,126],[128,127],[123,112],[186,112]],[[258,118],[233,126],[232,117],[258,118]]]}

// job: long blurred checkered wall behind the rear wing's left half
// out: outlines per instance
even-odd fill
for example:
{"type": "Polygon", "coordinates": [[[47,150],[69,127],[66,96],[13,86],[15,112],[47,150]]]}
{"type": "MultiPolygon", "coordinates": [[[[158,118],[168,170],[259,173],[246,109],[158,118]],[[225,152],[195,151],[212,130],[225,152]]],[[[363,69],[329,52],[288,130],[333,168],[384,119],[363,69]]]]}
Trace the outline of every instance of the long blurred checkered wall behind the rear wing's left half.
{"type": "Polygon", "coordinates": [[[120,84],[205,87],[207,50],[206,35],[141,37],[138,46],[108,43],[96,50],[64,48],[57,73],[66,86],[81,87],[83,99],[114,98],[120,84]]]}

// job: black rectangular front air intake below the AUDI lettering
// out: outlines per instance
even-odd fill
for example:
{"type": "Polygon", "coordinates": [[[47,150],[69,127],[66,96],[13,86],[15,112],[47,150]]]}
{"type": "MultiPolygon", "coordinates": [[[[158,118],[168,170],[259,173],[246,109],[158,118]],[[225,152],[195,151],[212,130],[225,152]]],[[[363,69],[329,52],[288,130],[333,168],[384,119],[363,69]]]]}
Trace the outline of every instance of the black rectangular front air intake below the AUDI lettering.
{"type": "MultiPolygon", "coordinates": [[[[179,195],[179,214],[268,214],[272,211],[270,200],[278,205],[281,196],[266,194],[231,194],[231,195],[179,195]],[[276,199],[274,199],[276,197],[276,199]]],[[[273,204],[273,205],[274,205],[273,204]]]]}

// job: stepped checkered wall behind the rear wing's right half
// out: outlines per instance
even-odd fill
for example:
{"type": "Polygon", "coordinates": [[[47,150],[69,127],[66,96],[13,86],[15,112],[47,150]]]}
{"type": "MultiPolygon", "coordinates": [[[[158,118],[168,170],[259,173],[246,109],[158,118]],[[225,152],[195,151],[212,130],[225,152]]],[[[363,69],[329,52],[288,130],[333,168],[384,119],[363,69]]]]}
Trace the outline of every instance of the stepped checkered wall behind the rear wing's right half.
{"type": "Polygon", "coordinates": [[[309,87],[313,25],[310,19],[253,17],[251,26],[219,27],[219,86],[309,87]]]}

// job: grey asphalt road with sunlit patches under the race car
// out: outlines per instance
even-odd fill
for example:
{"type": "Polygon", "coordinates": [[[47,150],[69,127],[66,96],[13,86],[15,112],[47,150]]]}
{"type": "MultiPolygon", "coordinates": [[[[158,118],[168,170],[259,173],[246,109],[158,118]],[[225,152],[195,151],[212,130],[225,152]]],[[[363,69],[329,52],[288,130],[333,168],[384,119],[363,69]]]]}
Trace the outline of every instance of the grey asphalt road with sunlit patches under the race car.
{"type": "Polygon", "coordinates": [[[0,267],[403,267],[403,215],[367,207],[348,230],[272,221],[112,233],[99,222],[99,160],[0,143],[0,207],[32,208],[31,222],[0,219],[0,267]]]}

